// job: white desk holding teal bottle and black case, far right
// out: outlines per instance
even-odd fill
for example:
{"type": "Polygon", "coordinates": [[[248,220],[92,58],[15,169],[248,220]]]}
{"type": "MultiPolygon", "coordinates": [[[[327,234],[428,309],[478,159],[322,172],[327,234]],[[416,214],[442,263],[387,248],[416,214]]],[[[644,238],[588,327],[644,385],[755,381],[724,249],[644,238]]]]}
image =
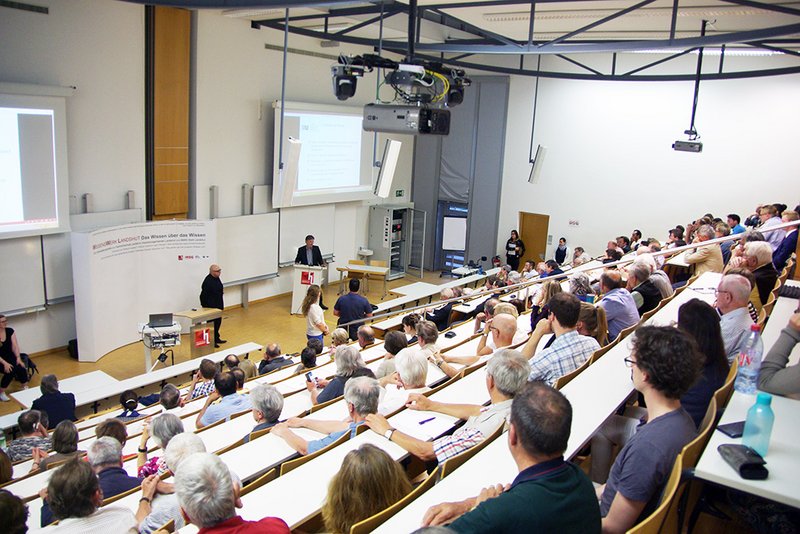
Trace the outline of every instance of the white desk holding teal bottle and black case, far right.
{"type": "MultiPolygon", "coordinates": [[[[744,420],[753,402],[755,396],[734,391],[720,424],[744,420]]],[[[712,432],[711,440],[697,463],[695,475],[728,488],[800,508],[800,428],[796,419],[800,416],[800,401],[773,395],[772,410],[775,412],[775,423],[769,451],[764,458],[769,469],[766,480],[745,480],[739,477],[722,459],[717,447],[723,443],[741,443],[742,440],[729,438],[716,430],[712,432]]]]}

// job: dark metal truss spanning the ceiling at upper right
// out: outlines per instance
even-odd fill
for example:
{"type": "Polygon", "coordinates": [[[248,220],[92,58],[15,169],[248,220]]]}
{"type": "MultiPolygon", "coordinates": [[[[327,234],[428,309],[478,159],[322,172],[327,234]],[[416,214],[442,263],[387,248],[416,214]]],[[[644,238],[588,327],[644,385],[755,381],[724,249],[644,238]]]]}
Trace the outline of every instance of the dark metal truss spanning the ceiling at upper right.
{"type": "MultiPolygon", "coordinates": [[[[413,26],[409,24],[409,28],[413,27],[416,31],[410,32],[413,35],[413,43],[411,44],[410,48],[415,58],[436,61],[445,65],[469,69],[470,71],[481,70],[502,74],[541,76],[545,78],[620,81],[695,80],[697,77],[695,72],[685,72],[680,74],[654,74],[647,71],[650,71],[653,67],[658,65],[663,65],[664,63],[683,57],[686,54],[698,52],[705,47],[721,47],[721,54],[718,72],[702,74],[701,79],[703,80],[753,78],[800,73],[800,64],[782,68],[751,69],[728,72],[724,71],[722,68],[725,59],[726,47],[730,44],[740,44],[747,48],[756,48],[770,52],[780,52],[793,58],[800,58],[800,52],[787,48],[787,46],[797,46],[800,44],[800,39],[794,37],[797,34],[800,34],[800,10],[798,9],[783,5],[767,4],[754,0],[720,0],[728,4],[746,6],[774,13],[780,13],[782,15],[791,15],[798,18],[797,20],[793,21],[792,24],[783,24],[771,28],[743,30],[728,33],[714,33],[711,35],[698,35],[696,37],[675,38],[677,17],[680,6],[679,0],[673,0],[669,27],[670,38],[668,39],[580,38],[585,37],[588,32],[605,24],[606,22],[618,19],[634,11],[641,10],[654,2],[654,0],[642,0],[631,5],[630,7],[620,9],[615,13],[600,18],[577,30],[556,37],[555,39],[534,39],[534,15],[537,5],[555,3],[568,4],[577,1],[580,0],[494,0],[490,2],[468,2],[460,4],[441,3],[417,6],[415,0],[410,0],[411,5],[389,0],[383,3],[375,2],[372,5],[367,6],[341,8],[333,7],[329,9],[327,13],[320,14],[291,16],[291,13],[289,13],[290,16],[288,18],[281,17],[253,21],[252,26],[254,28],[271,28],[278,31],[284,31],[285,29],[288,29],[288,31],[291,33],[312,37],[323,41],[338,41],[342,43],[367,46],[375,50],[382,50],[383,52],[392,52],[407,56],[409,53],[409,43],[386,40],[385,38],[379,42],[379,39],[358,37],[352,35],[352,33],[358,29],[369,26],[370,24],[378,24],[381,18],[386,20],[387,18],[396,16],[398,14],[404,14],[408,16],[409,13],[412,13],[411,16],[414,17],[415,20],[413,26]],[[508,36],[485,30],[476,26],[475,24],[461,20],[452,14],[453,12],[457,12],[458,9],[462,8],[513,5],[525,5],[530,7],[528,38],[524,41],[515,40],[508,36]],[[444,11],[445,9],[447,12],[444,11]],[[364,16],[369,18],[364,21],[354,23],[351,26],[336,32],[328,31],[328,26],[331,20],[364,16]],[[286,21],[288,21],[288,26],[286,25],[286,21]],[[299,25],[301,22],[308,21],[320,21],[320,26],[323,29],[315,30],[301,27],[299,25]],[[438,43],[422,43],[419,40],[419,30],[423,22],[457,30],[470,35],[471,38],[451,39],[438,43]],[[648,50],[674,50],[675,53],[626,72],[617,72],[617,53],[640,52],[648,50]],[[612,53],[612,61],[606,72],[598,70],[596,66],[590,67],[574,57],[575,54],[591,53],[612,53]],[[491,64],[490,62],[481,61],[479,59],[475,61],[464,61],[466,58],[472,56],[487,55],[518,55],[519,67],[497,66],[491,64]],[[543,70],[541,68],[529,69],[525,68],[524,66],[525,57],[529,55],[554,55],[555,57],[564,60],[565,63],[549,62],[552,63],[552,65],[549,65],[548,67],[549,70],[543,70]],[[558,70],[560,65],[566,66],[567,63],[579,67],[583,72],[575,72],[573,70],[558,70]]],[[[287,4],[293,3],[297,4],[298,6],[310,5],[308,2],[303,3],[297,1],[283,2],[282,6],[285,7],[287,4]]],[[[341,24],[341,22],[337,20],[337,24],[341,24]]]]}

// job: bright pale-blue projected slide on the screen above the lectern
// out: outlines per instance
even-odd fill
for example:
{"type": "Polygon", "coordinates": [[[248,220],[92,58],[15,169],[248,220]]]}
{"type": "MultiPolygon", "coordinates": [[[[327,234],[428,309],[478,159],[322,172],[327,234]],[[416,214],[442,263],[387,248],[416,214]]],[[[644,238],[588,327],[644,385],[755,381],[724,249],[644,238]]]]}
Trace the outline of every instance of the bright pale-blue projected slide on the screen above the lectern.
{"type": "MultiPolygon", "coordinates": [[[[290,114],[286,114],[287,117],[290,114]]],[[[359,185],[361,117],[352,115],[294,115],[299,120],[303,150],[297,189],[331,189],[359,185]]]]}

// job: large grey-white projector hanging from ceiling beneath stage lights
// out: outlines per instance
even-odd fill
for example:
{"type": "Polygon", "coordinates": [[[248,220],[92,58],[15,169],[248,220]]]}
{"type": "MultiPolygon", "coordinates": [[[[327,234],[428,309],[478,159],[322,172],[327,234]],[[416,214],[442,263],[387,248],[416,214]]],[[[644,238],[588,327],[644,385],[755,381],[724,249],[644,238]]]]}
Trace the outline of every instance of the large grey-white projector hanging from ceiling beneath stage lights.
{"type": "Polygon", "coordinates": [[[447,135],[450,133],[450,111],[419,106],[367,104],[364,106],[361,126],[367,132],[447,135]]]}

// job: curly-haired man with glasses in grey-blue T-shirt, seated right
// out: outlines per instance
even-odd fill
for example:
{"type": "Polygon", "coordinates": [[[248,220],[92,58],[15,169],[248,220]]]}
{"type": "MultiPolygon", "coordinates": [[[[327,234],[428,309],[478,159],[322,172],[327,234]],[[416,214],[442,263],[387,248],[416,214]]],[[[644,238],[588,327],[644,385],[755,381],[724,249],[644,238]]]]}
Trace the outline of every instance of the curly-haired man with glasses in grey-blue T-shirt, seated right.
{"type": "Polygon", "coordinates": [[[602,439],[592,438],[593,475],[608,465],[611,444],[625,443],[608,481],[597,490],[603,532],[625,532],[655,509],[675,458],[697,434],[680,402],[700,375],[701,359],[688,334],[669,326],[643,326],[626,363],[634,388],[644,395],[647,423],[612,416],[598,433],[602,439]]]}

